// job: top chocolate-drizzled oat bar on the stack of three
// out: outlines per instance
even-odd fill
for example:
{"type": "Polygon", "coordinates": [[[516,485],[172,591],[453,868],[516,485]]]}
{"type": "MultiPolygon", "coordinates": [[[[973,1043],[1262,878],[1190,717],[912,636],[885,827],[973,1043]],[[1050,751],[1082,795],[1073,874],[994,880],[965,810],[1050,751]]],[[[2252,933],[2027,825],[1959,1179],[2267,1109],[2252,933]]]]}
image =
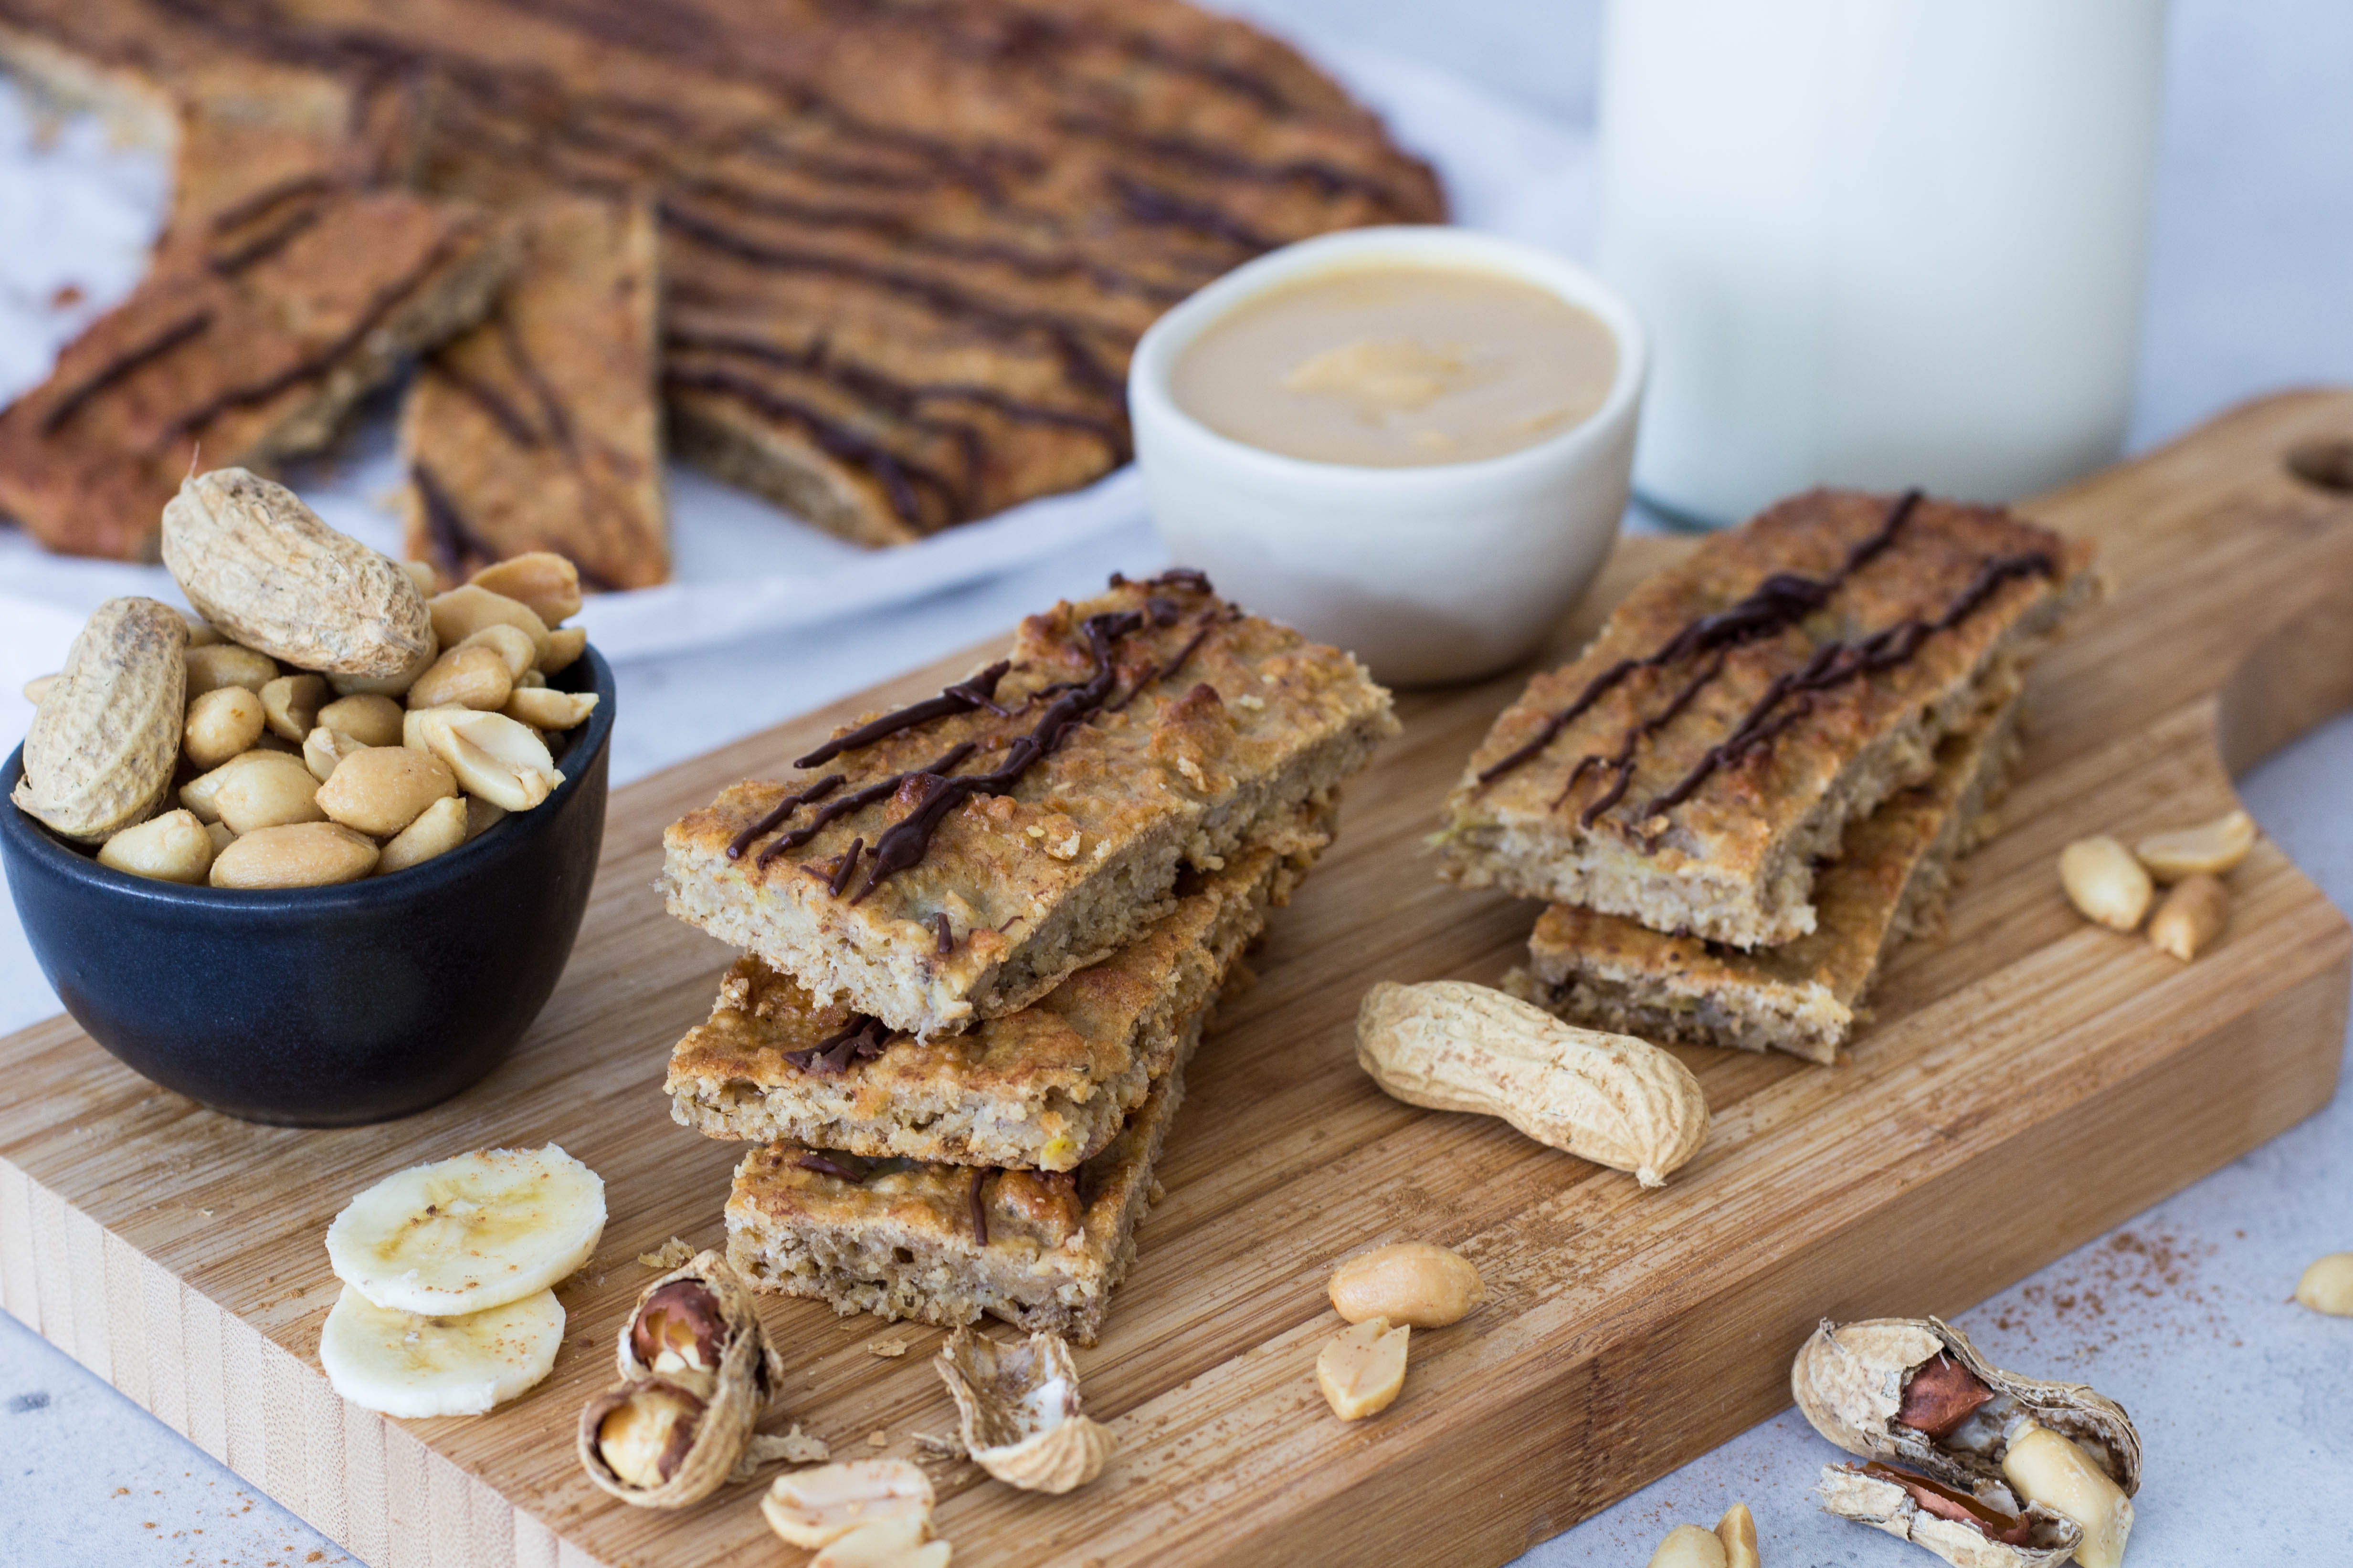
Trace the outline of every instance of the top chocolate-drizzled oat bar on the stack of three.
{"type": "Polygon", "coordinates": [[[1348,654],[1193,571],[1031,616],[1007,658],[664,835],[671,914],[929,1039],[1002,1018],[1292,832],[1395,733],[1348,654]]]}

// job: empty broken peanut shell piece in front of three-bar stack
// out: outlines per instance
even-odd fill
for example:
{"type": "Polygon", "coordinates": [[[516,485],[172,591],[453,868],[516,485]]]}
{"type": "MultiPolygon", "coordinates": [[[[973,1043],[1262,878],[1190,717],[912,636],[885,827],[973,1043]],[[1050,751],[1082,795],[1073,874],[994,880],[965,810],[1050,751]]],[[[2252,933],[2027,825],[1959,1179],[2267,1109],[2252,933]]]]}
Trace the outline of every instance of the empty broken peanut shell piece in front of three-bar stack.
{"type": "Polygon", "coordinates": [[[1068,1493],[1099,1476],[1118,1448],[1111,1427],[1080,1408],[1078,1366],[1052,1333],[1007,1345],[958,1328],[934,1366],[972,1462],[1007,1486],[1068,1493]]]}

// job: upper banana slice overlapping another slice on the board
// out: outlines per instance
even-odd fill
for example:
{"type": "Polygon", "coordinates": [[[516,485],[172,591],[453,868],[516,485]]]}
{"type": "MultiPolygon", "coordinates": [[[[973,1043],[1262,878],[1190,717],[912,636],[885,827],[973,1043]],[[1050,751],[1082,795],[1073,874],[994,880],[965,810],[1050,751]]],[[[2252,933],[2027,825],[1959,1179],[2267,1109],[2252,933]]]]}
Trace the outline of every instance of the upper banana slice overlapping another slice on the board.
{"type": "Polygon", "coordinates": [[[605,1234],[605,1182],[553,1143],[409,1166],[327,1227],[336,1279],[388,1312],[459,1316],[546,1291],[605,1234]]]}

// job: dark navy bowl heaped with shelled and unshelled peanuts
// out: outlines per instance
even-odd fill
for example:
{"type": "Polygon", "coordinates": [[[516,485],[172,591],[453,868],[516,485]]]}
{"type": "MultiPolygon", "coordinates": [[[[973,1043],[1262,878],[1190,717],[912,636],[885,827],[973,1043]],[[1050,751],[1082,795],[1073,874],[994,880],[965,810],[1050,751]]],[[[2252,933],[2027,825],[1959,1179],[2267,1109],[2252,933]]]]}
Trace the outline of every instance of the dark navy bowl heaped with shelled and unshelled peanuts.
{"type": "Polygon", "coordinates": [[[188,616],[111,599],[0,769],[33,957],[122,1063],[292,1126],[478,1084],[572,954],[612,668],[553,555],[431,574],[242,470],[165,510],[188,616]]]}

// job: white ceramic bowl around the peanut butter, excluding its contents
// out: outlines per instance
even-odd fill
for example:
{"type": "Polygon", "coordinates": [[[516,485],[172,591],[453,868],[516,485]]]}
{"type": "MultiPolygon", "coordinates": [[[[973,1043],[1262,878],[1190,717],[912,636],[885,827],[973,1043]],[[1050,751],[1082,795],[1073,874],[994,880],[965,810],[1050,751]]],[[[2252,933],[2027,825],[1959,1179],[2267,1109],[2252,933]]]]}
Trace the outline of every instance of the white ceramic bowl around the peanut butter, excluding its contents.
{"type": "Polygon", "coordinates": [[[1351,228],[1287,244],[1153,322],[1127,371],[1136,463],[1169,552],[1219,592],[1419,686],[1537,651],[1617,538],[1649,348],[1633,306],[1551,252],[1466,228],[1351,228]],[[1419,263],[1501,273],[1584,306],[1617,339],[1602,407],[1475,463],[1355,468],[1264,451],[1176,407],[1169,371],[1214,320],[1311,273],[1419,263]]]}

